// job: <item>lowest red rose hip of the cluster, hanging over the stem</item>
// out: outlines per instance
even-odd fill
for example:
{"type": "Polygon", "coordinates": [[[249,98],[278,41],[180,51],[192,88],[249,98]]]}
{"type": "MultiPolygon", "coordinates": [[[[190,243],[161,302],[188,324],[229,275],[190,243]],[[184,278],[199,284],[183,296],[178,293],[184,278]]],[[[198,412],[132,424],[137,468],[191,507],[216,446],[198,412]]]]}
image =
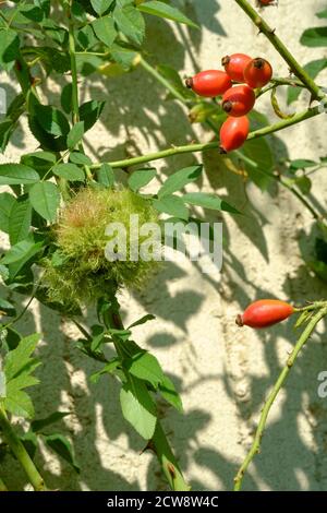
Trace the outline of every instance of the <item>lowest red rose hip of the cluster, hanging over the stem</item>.
{"type": "Polygon", "coordinates": [[[246,116],[227,118],[220,129],[220,152],[228,153],[241,147],[247,139],[250,121],[246,116]]]}

